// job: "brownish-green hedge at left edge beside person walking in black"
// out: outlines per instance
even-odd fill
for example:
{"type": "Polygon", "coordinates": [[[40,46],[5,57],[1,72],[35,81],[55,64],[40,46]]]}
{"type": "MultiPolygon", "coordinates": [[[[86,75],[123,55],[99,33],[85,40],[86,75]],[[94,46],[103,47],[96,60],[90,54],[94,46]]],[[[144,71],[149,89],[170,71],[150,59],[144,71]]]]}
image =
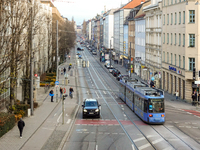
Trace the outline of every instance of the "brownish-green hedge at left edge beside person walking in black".
{"type": "Polygon", "coordinates": [[[0,137],[15,126],[14,114],[0,113],[0,137]]]}

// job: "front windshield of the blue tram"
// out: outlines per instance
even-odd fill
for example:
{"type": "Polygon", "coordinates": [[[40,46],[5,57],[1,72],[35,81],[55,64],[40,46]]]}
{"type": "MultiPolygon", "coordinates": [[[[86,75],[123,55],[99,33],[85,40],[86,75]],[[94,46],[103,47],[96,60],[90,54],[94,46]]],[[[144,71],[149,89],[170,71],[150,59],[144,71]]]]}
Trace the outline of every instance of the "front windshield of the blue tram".
{"type": "Polygon", "coordinates": [[[149,100],[150,113],[163,113],[164,112],[164,99],[150,99],[149,100]]]}

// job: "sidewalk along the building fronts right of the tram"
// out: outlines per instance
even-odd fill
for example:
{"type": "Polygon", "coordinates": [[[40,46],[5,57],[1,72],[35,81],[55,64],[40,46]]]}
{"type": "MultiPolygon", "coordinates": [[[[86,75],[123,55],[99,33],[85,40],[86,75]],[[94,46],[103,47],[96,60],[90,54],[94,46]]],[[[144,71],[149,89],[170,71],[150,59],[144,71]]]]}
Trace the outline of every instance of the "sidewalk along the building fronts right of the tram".
{"type": "MultiPolygon", "coordinates": [[[[98,57],[96,57],[96,60],[99,61],[99,55],[98,57]]],[[[104,62],[100,62],[101,66],[104,67],[104,62]]],[[[112,60],[111,65],[118,69],[121,74],[127,74],[128,72],[126,71],[126,68],[122,65],[116,64],[114,63],[114,61],[112,60]]],[[[104,67],[105,68],[105,67],[104,67]]],[[[137,78],[139,80],[142,80],[139,76],[137,76],[136,74],[131,74],[131,77],[133,78],[137,78]]],[[[143,81],[143,80],[142,80],[143,81]]],[[[144,81],[146,82],[146,81],[144,81]]],[[[200,111],[200,106],[192,106],[192,103],[187,102],[186,100],[183,99],[176,99],[176,96],[169,94],[168,92],[165,91],[165,102],[166,105],[170,105],[179,109],[189,109],[189,110],[198,110],[200,111]]]]}

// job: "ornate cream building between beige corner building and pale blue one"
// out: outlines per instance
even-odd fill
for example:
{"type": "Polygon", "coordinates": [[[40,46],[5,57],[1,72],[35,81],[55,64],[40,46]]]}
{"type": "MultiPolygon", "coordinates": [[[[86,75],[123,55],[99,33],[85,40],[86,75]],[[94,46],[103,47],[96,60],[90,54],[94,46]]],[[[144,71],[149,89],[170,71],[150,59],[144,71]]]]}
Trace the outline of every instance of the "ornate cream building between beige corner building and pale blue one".
{"type": "Polygon", "coordinates": [[[161,88],[161,34],[162,34],[162,5],[160,0],[152,0],[144,7],[146,19],[145,67],[146,80],[155,78],[157,88],[161,88]]]}

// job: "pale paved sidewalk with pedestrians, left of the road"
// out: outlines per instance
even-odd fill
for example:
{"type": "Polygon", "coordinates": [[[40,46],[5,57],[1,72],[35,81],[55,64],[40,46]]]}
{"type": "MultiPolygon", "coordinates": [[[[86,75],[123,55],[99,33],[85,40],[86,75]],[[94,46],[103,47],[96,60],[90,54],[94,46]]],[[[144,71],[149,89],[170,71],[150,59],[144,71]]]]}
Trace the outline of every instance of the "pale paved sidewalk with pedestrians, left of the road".
{"type": "MultiPolygon", "coordinates": [[[[72,60],[70,60],[71,62],[72,60]]],[[[69,62],[64,63],[65,66],[67,66],[69,62]]],[[[75,72],[75,70],[73,71],[75,72]]],[[[73,84],[74,75],[69,75],[69,80],[71,80],[70,84],[73,84]]],[[[64,84],[63,82],[64,75],[60,75],[59,83],[64,84]]],[[[63,85],[62,85],[63,86],[63,85]]],[[[64,86],[65,87],[65,86],[64,86]]],[[[75,88],[75,87],[74,87],[75,88]]],[[[74,89],[75,90],[75,89],[74,89]]],[[[21,98],[21,88],[18,88],[18,99],[21,98]]],[[[66,94],[68,94],[68,88],[66,88],[66,94]]],[[[5,135],[3,135],[0,138],[0,150],[19,150],[19,149],[42,149],[45,143],[48,142],[49,139],[51,139],[51,134],[54,130],[52,130],[51,127],[48,129],[43,129],[43,132],[41,132],[41,125],[46,121],[46,119],[49,117],[51,112],[56,108],[56,106],[59,104],[60,101],[60,90],[58,89],[58,103],[56,102],[56,88],[50,88],[46,93],[43,87],[40,87],[37,89],[37,100],[39,103],[39,107],[34,110],[34,115],[30,117],[23,118],[25,122],[25,127],[23,130],[23,137],[22,139],[19,138],[19,130],[17,127],[17,124],[11,129],[9,132],[7,132],[5,135]],[[54,102],[51,102],[49,91],[51,89],[54,89],[54,102]],[[46,131],[45,131],[46,130],[46,131]],[[45,134],[45,132],[48,132],[49,134],[45,134]]],[[[67,112],[68,113],[68,112],[67,112]]],[[[69,114],[69,113],[68,113],[69,114]]],[[[70,115],[70,114],[69,114],[70,115]]],[[[53,123],[51,126],[56,127],[53,123]]],[[[60,130],[63,130],[63,133],[65,134],[68,130],[68,128],[65,126],[59,126],[60,130]]],[[[59,141],[61,142],[61,141],[59,141]]],[[[60,143],[57,143],[58,146],[60,143]]],[[[57,146],[57,145],[56,145],[57,146]]]]}

